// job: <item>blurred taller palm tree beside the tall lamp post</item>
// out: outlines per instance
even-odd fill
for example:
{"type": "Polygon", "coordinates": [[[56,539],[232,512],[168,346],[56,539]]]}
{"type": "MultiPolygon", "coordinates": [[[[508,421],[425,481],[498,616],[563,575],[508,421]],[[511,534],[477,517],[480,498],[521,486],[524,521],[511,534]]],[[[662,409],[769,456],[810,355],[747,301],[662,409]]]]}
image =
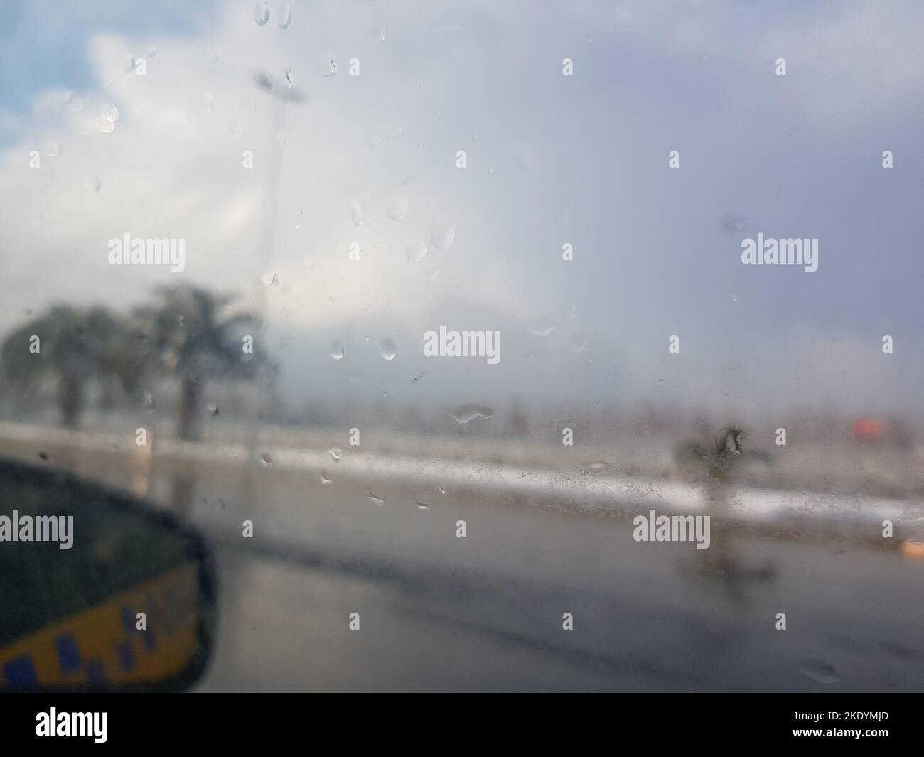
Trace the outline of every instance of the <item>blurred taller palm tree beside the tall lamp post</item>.
{"type": "MultiPolygon", "coordinates": [[[[225,315],[233,298],[200,287],[159,287],[157,296],[158,304],[136,309],[135,328],[146,335],[157,372],[179,379],[177,435],[198,439],[206,382],[252,379],[269,365],[258,350],[244,351],[244,336],[253,336],[260,320],[249,313],[225,315]]],[[[148,371],[147,358],[139,370],[139,377],[148,371]]]]}

